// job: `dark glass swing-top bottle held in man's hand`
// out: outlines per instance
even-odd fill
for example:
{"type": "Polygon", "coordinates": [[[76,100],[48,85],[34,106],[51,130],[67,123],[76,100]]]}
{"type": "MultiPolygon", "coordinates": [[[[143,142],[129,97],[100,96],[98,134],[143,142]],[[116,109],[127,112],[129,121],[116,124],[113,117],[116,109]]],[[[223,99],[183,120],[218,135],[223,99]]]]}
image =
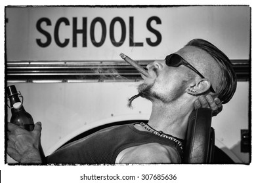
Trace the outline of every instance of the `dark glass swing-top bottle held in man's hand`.
{"type": "Polygon", "coordinates": [[[12,124],[19,125],[20,127],[32,131],[34,128],[34,122],[32,116],[26,112],[23,107],[23,97],[21,93],[17,92],[16,87],[14,85],[7,86],[7,97],[10,100],[10,108],[12,112],[10,122],[12,124]],[[22,97],[22,102],[20,101],[20,97],[22,97]]]}

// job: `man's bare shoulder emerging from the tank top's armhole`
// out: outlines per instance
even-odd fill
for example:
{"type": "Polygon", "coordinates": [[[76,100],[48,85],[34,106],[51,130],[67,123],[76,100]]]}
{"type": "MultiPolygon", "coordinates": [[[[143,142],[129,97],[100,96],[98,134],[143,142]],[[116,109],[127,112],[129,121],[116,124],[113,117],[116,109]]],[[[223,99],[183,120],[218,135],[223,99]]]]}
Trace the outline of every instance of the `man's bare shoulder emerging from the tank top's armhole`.
{"type": "Polygon", "coordinates": [[[119,163],[181,163],[174,148],[149,143],[128,148],[119,163]]]}

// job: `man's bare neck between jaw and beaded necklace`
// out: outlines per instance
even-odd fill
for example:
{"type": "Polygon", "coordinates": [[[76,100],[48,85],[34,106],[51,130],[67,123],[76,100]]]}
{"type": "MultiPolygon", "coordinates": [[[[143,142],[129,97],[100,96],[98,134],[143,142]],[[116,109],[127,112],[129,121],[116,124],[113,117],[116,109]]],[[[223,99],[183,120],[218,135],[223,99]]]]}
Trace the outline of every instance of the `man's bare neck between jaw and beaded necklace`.
{"type": "Polygon", "coordinates": [[[188,101],[175,101],[169,104],[155,101],[148,124],[158,131],[185,139],[188,118],[194,108],[188,104],[188,101]]]}

